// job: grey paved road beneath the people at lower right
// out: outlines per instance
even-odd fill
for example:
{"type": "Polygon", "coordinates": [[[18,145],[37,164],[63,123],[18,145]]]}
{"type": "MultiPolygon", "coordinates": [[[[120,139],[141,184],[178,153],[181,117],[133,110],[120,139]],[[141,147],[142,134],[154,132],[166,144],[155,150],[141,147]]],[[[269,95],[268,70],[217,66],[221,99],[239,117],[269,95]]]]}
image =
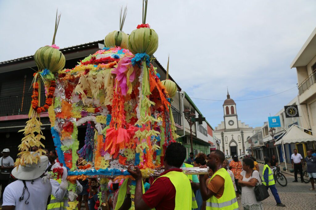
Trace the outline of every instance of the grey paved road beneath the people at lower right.
{"type": "MultiPolygon", "coordinates": [[[[260,174],[262,174],[263,166],[259,164],[260,174]]],[[[288,180],[288,185],[282,187],[276,183],[276,189],[278,190],[280,199],[286,207],[277,207],[276,201],[269,190],[270,196],[262,201],[264,210],[281,210],[281,209],[316,209],[316,191],[309,191],[311,184],[305,184],[301,182],[292,182],[294,176],[284,174],[288,180]]],[[[241,201],[238,201],[239,209],[243,210],[241,201]]]]}

